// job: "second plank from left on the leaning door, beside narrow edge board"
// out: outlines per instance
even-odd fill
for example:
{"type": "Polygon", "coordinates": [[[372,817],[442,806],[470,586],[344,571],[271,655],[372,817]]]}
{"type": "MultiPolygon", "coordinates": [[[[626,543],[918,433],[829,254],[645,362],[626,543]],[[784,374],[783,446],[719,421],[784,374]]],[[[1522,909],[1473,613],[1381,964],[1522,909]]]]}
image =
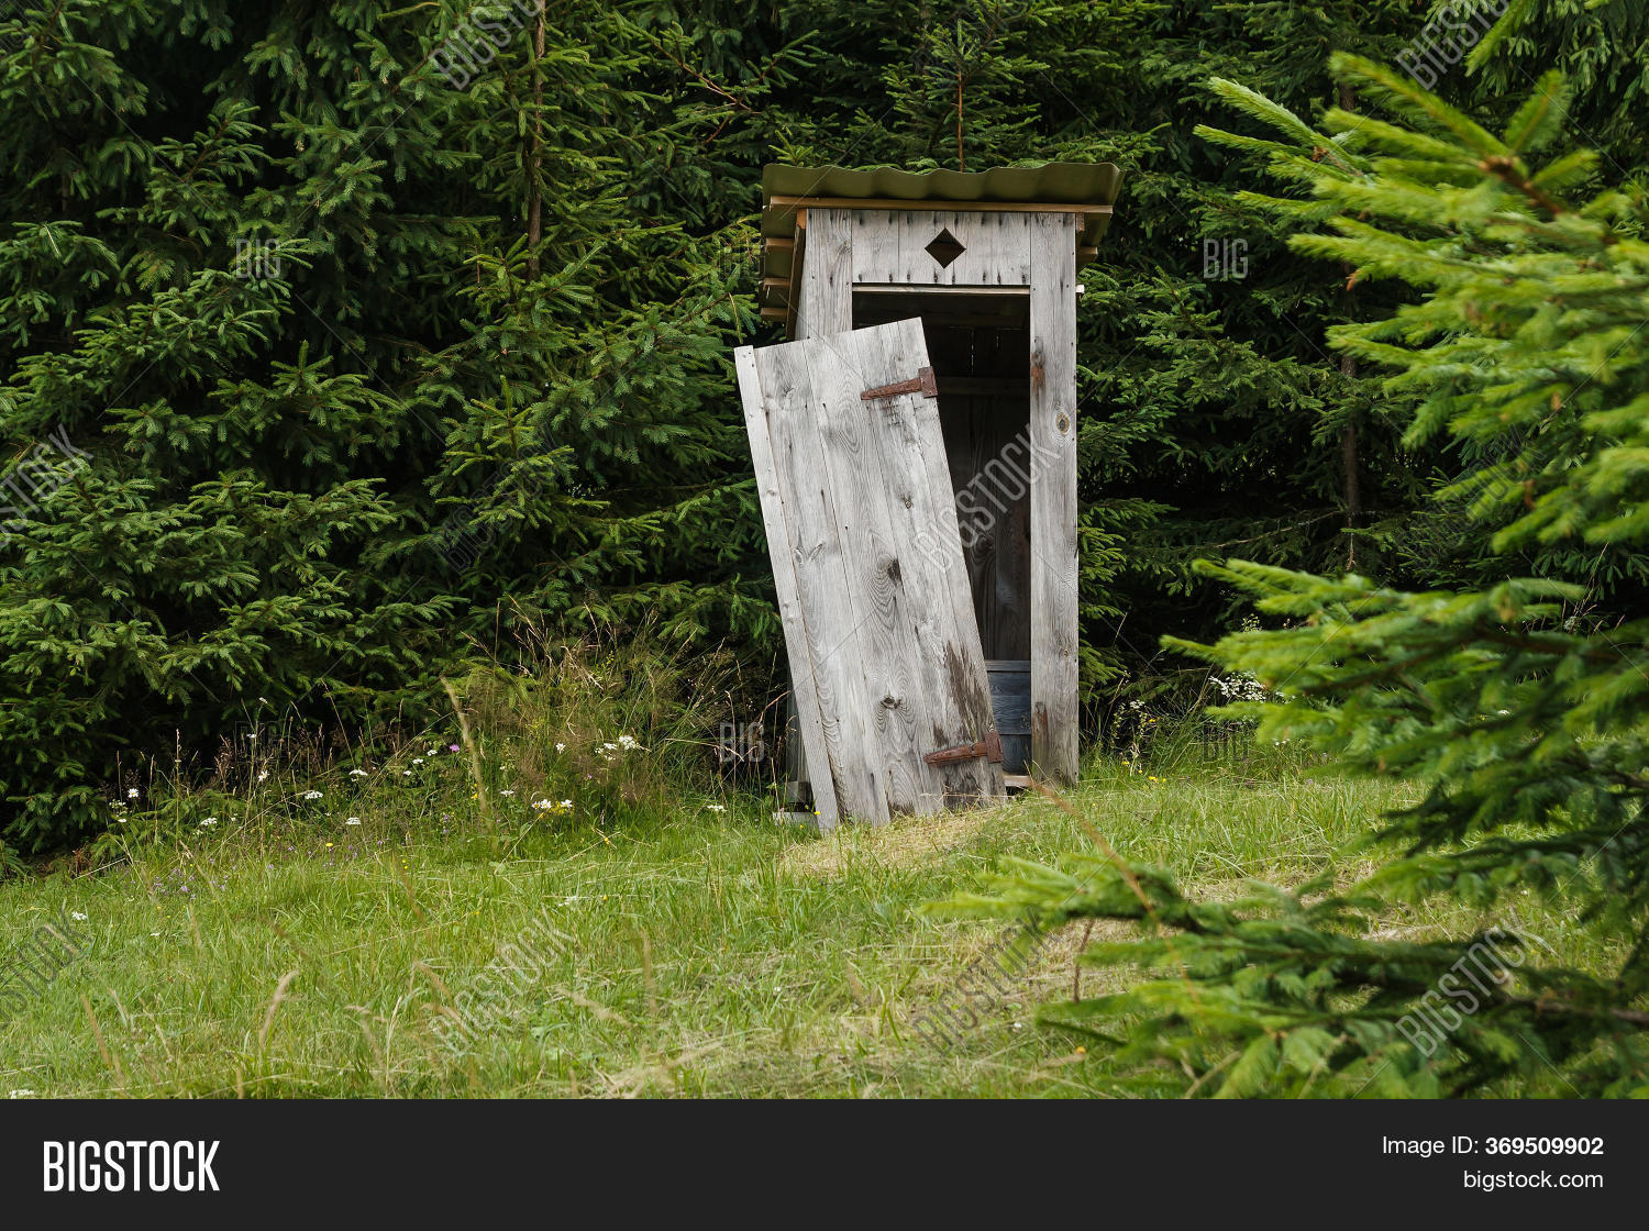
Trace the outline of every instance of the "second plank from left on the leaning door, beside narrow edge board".
{"type": "MultiPolygon", "coordinates": [[[[806,613],[796,634],[806,644],[824,732],[826,756],[815,760],[810,753],[808,773],[815,796],[820,779],[829,775],[839,812],[881,824],[887,821],[887,799],[879,771],[866,758],[869,735],[857,616],[834,493],[820,468],[824,445],[806,364],[811,344],[796,341],[755,351],[773,468],[796,554],[796,595],[806,613]]],[[[787,628],[785,636],[788,639],[792,630],[787,628]]]]}

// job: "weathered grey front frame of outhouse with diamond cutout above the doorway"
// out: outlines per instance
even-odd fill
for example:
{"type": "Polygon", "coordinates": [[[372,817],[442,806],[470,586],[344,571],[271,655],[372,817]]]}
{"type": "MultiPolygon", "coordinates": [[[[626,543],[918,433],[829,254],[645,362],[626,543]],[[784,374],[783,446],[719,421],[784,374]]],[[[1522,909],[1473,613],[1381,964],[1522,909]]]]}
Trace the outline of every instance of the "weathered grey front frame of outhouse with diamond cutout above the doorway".
{"type": "MultiPolygon", "coordinates": [[[[1029,300],[1031,758],[1077,776],[1077,237],[1080,213],[808,208],[798,216],[796,338],[846,333],[854,295],[1029,300]],[[930,246],[948,232],[948,264],[930,246]]],[[[942,250],[945,250],[942,249],[942,250]]],[[[912,310],[910,315],[920,315],[912,310]]],[[[915,372],[910,372],[915,376],[915,372]]],[[[943,409],[945,389],[940,386],[943,409]]],[[[1022,404],[1022,400],[1021,400],[1022,404]]]]}

